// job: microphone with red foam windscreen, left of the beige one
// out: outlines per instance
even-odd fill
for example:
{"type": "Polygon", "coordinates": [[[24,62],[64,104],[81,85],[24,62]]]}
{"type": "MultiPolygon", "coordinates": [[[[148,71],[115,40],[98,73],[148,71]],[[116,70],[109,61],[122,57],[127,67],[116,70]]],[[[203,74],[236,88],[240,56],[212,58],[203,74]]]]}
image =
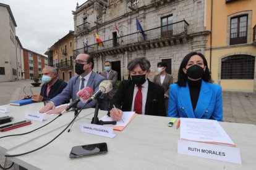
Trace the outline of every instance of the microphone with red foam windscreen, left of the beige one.
{"type": "Polygon", "coordinates": [[[65,113],[66,111],[68,111],[70,108],[74,107],[75,105],[77,105],[78,102],[88,102],[87,100],[90,99],[90,97],[93,94],[93,89],[91,87],[84,87],[82,90],[80,90],[79,92],[77,92],[77,99],[75,99],[74,102],[72,102],[66,109],[64,109],[63,111],[61,111],[62,113],[65,113]]]}

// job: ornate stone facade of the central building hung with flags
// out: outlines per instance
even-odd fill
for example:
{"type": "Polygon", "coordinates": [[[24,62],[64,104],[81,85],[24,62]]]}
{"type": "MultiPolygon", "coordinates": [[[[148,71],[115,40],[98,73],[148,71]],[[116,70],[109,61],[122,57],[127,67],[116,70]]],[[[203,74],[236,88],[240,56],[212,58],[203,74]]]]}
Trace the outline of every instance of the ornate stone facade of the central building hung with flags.
{"type": "MultiPolygon", "coordinates": [[[[179,0],[164,2],[164,5],[159,4],[158,6],[155,6],[155,3],[151,1],[140,1],[139,6],[135,7],[137,8],[136,10],[130,10],[128,7],[130,3],[129,1],[111,1],[106,9],[106,13],[102,16],[102,23],[97,28],[94,21],[97,20],[96,17],[100,15],[100,12],[97,9],[95,10],[97,7],[96,2],[93,6],[94,9],[92,6],[79,7],[74,16],[75,49],[83,48],[85,38],[89,46],[95,44],[95,31],[98,32],[102,41],[113,39],[112,33],[116,31],[114,30],[115,23],[121,35],[124,36],[137,32],[136,17],[139,18],[143,30],[149,30],[161,26],[162,17],[173,15],[173,22],[179,22],[185,19],[189,23],[188,34],[198,33],[198,36],[187,38],[187,42],[183,44],[177,43],[173,46],[96,57],[94,70],[98,72],[103,71],[103,64],[106,60],[121,61],[121,77],[124,76],[124,78],[127,78],[127,63],[135,57],[146,57],[151,62],[150,79],[153,79],[153,76],[158,74],[156,64],[161,62],[162,59],[171,59],[172,74],[174,75],[174,79],[177,79],[179,65],[186,54],[191,51],[204,53],[206,40],[205,35],[200,33],[205,30],[205,1],[179,0]],[[84,17],[87,17],[91,30],[88,33],[80,34],[76,31],[76,26],[83,23],[84,17]]],[[[107,44],[104,48],[106,47],[107,44]]],[[[101,48],[104,49],[103,47],[98,47],[98,49],[101,48]]]]}

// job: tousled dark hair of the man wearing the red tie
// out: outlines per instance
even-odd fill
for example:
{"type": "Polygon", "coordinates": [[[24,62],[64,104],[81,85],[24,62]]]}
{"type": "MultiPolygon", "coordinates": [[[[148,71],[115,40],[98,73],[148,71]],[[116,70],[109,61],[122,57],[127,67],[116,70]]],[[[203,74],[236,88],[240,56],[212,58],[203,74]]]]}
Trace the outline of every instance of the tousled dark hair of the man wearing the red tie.
{"type": "Polygon", "coordinates": [[[140,65],[140,68],[145,71],[145,70],[150,70],[150,62],[145,58],[145,57],[138,57],[138,58],[135,58],[133,60],[131,60],[129,63],[128,63],[128,66],[127,66],[127,69],[129,71],[132,71],[134,70],[134,68],[137,66],[137,65],[140,65]]]}

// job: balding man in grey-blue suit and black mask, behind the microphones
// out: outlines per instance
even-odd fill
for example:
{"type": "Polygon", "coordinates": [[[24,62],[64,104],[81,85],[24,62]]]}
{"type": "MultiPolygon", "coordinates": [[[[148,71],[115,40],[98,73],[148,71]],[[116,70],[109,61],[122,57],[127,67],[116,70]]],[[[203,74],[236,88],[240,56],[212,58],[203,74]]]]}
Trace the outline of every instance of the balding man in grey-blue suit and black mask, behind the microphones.
{"type": "MultiPolygon", "coordinates": [[[[60,113],[67,107],[67,105],[59,108],[55,108],[55,106],[64,104],[64,102],[69,99],[72,99],[72,101],[77,99],[77,92],[83,89],[83,87],[88,86],[91,87],[95,92],[98,91],[99,84],[101,81],[105,80],[105,78],[93,72],[93,66],[93,57],[88,54],[77,55],[77,58],[75,59],[75,73],[77,73],[77,76],[72,77],[69,80],[69,84],[67,84],[67,87],[61,92],[61,94],[49,100],[45,107],[41,108],[39,112],[45,113],[46,111],[52,109],[48,112],[49,114],[60,113]]],[[[99,107],[101,110],[108,110],[108,104],[105,96],[105,94],[100,96],[101,102],[99,107]]],[[[92,108],[95,107],[95,105],[96,100],[93,100],[92,102],[88,103],[85,108],[92,108]]],[[[77,107],[79,109],[82,108],[83,103],[79,102],[77,107]]]]}

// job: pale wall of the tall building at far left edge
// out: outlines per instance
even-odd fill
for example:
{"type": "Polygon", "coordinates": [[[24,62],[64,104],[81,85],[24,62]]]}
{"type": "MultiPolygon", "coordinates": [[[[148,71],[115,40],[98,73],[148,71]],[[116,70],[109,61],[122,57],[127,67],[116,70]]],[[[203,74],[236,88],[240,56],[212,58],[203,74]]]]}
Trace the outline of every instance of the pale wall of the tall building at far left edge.
{"type": "Polygon", "coordinates": [[[17,59],[15,26],[6,7],[0,6],[0,67],[4,67],[5,75],[0,81],[17,80],[17,59]]]}

